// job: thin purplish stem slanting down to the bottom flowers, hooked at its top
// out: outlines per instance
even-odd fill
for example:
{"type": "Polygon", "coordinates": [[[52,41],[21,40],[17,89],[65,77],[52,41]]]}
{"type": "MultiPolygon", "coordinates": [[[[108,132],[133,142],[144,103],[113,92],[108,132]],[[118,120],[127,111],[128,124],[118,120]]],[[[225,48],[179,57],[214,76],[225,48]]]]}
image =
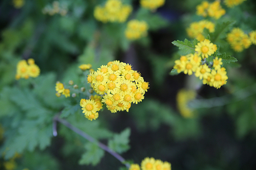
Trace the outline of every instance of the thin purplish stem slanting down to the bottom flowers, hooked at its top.
{"type": "MultiPolygon", "coordinates": [[[[59,117],[59,114],[57,114],[54,118],[53,118],[54,122],[59,122],[63,125],[65,125],[66,127],[68,127],[69,129],[71,129],[72,131],[74,131],[75,133],[79,134],[80,136],[82,136],[83,138],[86,138],[87,140],[89,140],[90,142],[95,142],[98,147],[100,147],[101,149],[103,149],[104,151],[110,153],[112,156],[114,156],[116,159],[118,159],[121,163],[123,163],[127,168],[130,167],[129,163],[124,163],[125,159],[123,157],[121,157],[119,154],[117,154],[116,152],[114,152],[112,149],[110,149],[109,147],[107,147],[105,144],[97,141],[95,138],[93,138],[92,136],[88,135],[87,133],[81,131],[80,129],[74,127],[73,125],[71,125],[67,120],[62,119],[59,117]]],[[[57,136],[57,131],[55,131],[55,128],[53,129],[53,135],[57,136]]]]}

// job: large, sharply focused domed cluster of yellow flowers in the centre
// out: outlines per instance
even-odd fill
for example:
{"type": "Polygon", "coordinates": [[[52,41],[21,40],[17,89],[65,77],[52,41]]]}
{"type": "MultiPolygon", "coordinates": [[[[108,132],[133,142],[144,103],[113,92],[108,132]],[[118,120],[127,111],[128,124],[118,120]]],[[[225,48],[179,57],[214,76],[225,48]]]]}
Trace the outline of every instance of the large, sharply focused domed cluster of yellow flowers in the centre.
{"type": "Polygon", "coordinates": [[[120,110],[128,112],[132,103],[138,104],[144,99],[149,88],[138,71],[118,60],[91,72],[87,80],[96,93],[103,95],[102,102],[112,113],[120,110]]]}

